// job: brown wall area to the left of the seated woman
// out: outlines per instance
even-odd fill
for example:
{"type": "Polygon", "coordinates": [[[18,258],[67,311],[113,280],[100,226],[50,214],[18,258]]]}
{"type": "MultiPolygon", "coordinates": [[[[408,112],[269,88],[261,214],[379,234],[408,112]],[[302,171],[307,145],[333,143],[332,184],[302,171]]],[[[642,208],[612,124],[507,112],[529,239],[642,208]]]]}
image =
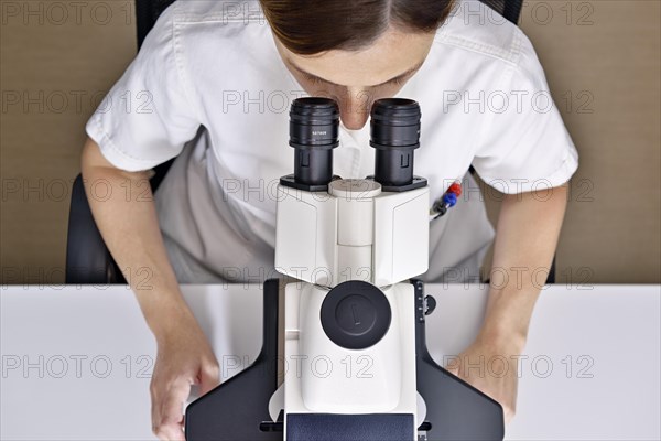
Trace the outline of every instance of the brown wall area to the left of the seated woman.
{"type": "Polygon", "coordinates": [[[66,20],[62,10],[50,7],[54,3],[0,1],[4,283],[17,278],[64,281],[69,201],[68,194],[62,198],[63,184],[68,193],[80,170],[85,122],[136,53],[134,18],[124,11],[133,8],[132,1],[83,2],[87,7],[79,9],[79,18],[75,2],[58,2],[67,6],[66,20]],[[36,13],[25,17],[30,11],[36,13]],[[17,94],[19,103],[13,105],[17,94]]]}

